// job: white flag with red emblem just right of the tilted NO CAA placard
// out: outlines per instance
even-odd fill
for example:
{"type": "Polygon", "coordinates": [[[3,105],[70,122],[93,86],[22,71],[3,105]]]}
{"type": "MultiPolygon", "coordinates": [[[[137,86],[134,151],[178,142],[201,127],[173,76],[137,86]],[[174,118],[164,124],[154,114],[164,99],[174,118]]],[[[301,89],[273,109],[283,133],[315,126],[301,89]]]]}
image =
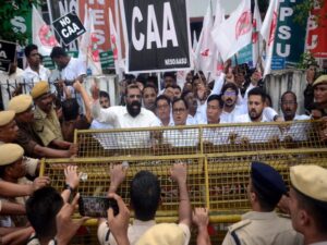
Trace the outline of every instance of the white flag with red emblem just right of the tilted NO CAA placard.
{"type": "Polygon", "coordinates": [[[87,11],[85,4],[85,15],[84,15],[84,27],[86,33],[83,34],[80,41],[80,52],[78,59],[85,63],[86,69],[92,70],[93,75],[102,74],[102,68],[100,63],[100,52],[97,46],[98,38],[94,28],[92,10],[87,11]]]}

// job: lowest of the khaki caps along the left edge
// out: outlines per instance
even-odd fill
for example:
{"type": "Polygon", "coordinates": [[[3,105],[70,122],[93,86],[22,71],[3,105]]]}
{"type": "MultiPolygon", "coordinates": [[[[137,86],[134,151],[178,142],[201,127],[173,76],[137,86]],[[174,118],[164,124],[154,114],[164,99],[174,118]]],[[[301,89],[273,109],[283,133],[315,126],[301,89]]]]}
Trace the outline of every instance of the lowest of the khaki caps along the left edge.
{"type": "Polygon", "coordinates": [[[3,144],[0,146],[0,166],[9,166],[21,159],[24,149],[17,144],[3,144]]]}

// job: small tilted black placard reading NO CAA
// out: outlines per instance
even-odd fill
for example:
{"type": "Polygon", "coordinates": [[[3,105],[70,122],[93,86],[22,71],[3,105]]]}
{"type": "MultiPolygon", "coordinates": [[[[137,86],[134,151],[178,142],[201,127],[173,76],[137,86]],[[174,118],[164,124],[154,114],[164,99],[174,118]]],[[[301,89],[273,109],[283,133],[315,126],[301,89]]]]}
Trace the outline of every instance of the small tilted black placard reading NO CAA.
{"type": "Polygon", "coordinates": [[[52,25],[64,45],[69,45],[86,32],[74,11],[57,19],[52,25]]]}

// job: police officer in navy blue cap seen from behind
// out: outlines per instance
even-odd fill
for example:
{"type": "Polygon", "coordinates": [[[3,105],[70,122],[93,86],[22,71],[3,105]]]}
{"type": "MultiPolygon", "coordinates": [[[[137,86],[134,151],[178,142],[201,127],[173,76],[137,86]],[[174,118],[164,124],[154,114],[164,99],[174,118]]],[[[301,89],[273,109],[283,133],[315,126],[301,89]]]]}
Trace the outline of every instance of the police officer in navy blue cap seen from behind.
{"type": "Polygon", "coordinates": [[[274,168],[252,162],[247,186],[252,211],[243,215],[240,222],[229,226],[222,245],[302,244],[302,236],[292,229],[291,221],[278,217],[274,211],[284,193],[284,182],[274,168]]]}

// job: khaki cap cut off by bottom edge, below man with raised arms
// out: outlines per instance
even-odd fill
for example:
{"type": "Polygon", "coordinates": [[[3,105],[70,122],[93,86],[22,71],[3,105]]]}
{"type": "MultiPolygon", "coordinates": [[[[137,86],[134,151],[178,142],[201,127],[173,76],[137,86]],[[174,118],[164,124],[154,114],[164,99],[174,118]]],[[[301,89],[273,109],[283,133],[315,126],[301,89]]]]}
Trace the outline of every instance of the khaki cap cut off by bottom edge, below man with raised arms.
{"type": "Polygon", "coordinates": [[[160,223],[148,229],[136,245],[183,245],[185,235],[175,223],[160,223]]]}

